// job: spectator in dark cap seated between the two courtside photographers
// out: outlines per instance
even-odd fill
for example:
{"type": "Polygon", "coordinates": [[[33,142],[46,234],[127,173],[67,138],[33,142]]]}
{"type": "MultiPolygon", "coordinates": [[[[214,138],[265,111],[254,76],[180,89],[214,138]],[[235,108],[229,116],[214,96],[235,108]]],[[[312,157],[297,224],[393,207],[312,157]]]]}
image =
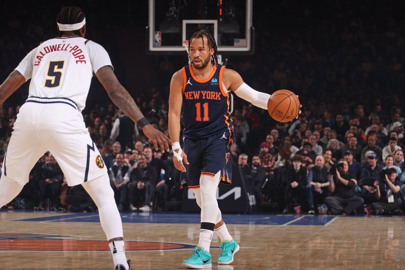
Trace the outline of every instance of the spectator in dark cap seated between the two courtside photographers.
{"type": "Polygon", "coordinates": [[[374,178],[374,180],[380,179],[380,172],[383,167],[378,164],[377,154],[375,152],[368,151],[366,157],[366,164],[361,167],[359,186],[361,187],[361,198],[369,204],[377,200],[375,197],[376,187],[371,184],[371,182],[363,182],[363,178],[374,178]]]}

